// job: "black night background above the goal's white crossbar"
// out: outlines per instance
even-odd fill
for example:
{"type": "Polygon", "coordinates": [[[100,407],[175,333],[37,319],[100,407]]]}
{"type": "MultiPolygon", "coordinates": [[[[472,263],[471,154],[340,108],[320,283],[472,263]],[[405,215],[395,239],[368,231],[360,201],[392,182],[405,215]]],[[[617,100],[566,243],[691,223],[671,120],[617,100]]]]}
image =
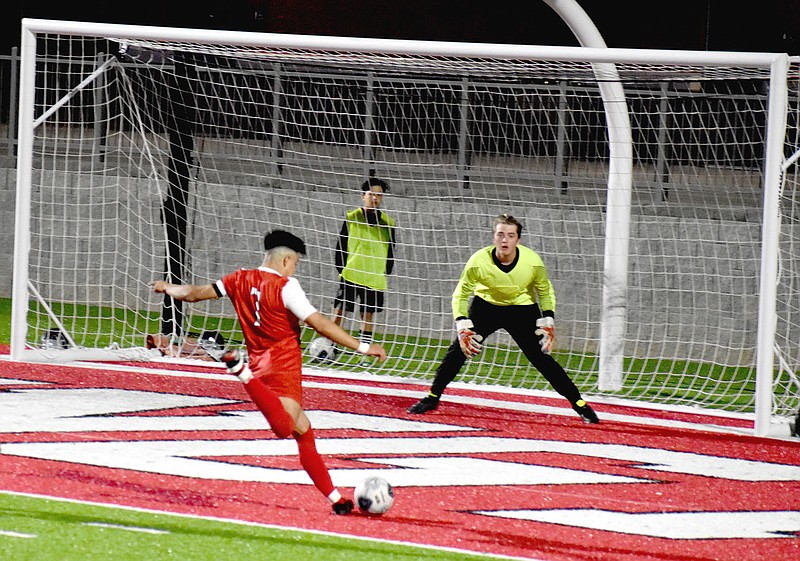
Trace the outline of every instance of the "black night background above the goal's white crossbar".
{"type": "MultiPolygon", "coordinates": [[[[609,47],[800,54],[800,0],[582,0],[609,47]]],[[[23,17],[207,29],[576,45],[541,0],[6,0],[0,53],[23,17]],[[522,5],[517,5],[522,4],[522,5]]]]}

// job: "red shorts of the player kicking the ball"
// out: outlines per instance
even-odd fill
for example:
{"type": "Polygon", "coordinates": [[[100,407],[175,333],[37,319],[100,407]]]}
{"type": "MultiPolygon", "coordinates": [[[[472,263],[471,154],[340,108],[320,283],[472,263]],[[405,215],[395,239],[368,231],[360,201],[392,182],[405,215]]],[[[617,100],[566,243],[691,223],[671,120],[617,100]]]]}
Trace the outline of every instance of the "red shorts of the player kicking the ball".
{"type": "Polygon", "coordinates": [[[280,397],[303,404],[303,355],[296,339],[281,341],[265,353],[250,355],[249,360],[254,376],[280,397]]]}

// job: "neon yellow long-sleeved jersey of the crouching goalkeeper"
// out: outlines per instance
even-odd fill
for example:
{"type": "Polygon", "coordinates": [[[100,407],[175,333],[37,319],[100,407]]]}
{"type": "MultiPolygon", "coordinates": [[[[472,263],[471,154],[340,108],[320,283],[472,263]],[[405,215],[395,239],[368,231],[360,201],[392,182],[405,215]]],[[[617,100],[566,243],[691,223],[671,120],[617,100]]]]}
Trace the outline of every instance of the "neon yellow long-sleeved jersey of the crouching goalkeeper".
{"type": "Polygon", "coordinates": [[[469,316],[469,299],[475,296],[496,306],[524,306],[538,302],[542,311],[556,311],[556,294],[539,254],[517,246],[517,259],[500,268],[493,257],[494,246],[472,254],[453,291],[453,317],[469,316]]]}

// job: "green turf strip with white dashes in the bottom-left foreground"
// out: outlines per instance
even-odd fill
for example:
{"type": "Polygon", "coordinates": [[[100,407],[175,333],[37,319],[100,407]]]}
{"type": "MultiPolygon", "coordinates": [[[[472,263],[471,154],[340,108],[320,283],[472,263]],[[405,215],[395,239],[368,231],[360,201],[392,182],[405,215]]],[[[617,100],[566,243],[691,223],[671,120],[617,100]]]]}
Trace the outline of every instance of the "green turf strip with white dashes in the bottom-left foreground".
{"type": "Polygon", "coordinates": [[[147,561],[486,559],[396,543],[0,493],[0,559],[147,561]]]}

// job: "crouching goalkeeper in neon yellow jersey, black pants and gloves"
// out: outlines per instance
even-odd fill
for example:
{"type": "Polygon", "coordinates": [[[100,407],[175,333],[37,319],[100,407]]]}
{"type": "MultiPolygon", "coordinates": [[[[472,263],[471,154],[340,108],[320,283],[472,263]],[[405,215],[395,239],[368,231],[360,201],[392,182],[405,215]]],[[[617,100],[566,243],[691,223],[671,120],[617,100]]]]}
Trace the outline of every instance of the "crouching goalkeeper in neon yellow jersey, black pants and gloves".
{"type": "Polygon", "coordinates": [[[467,358],[480,352],[489,335],[505,329],[584,422],[600,422],[561,365],[550,356],[555,292],[541,257],[519,245],[521,234],[522,224],[516,218],[500,215],[494,223],[494,245],[478,250],[467,261],[453,292],[458,335],[436,370],[430,393],[409,407],[409,413],[436,409],[447,384],[455,379],[467,358]]]}

